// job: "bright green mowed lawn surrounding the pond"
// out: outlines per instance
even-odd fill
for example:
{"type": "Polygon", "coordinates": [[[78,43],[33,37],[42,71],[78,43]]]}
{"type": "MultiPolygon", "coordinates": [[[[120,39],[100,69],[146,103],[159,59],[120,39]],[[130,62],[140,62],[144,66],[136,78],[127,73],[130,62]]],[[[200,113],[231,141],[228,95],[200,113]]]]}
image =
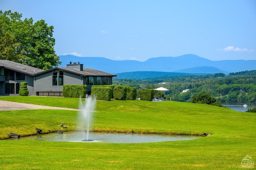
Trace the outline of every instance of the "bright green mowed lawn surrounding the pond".
{"type": "MultiPolygon", "coordinates": [[[[79,99],[0,97],[0,100],[78,109],[79,99]],[[54,103],[54,105],[52,105],[54,103]]],[[[0,101],[1,102],[1,101],[0,101]]],[[[77,130],[78,112],[0,112],[0,137],[77,130]],[[60,124],[67,125],[63,129],[60,124]]],[[[196,140],[140,144],[0,140],[0,169],[240,169],[256,160],[256,114],[173,101],[97,101],[91,130],[174,134],[210,133],[196,140]]]]}

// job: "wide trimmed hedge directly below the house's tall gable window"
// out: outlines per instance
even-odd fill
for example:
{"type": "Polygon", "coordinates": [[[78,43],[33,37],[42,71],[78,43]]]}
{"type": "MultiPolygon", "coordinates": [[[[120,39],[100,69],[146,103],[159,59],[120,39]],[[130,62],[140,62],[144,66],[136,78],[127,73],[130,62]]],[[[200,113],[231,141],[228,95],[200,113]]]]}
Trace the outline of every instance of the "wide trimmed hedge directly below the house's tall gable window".
{"type": "Polygon", "coordinates": [[[86,97],[87,85],[63,85],[63,97],[86,97]]]}

